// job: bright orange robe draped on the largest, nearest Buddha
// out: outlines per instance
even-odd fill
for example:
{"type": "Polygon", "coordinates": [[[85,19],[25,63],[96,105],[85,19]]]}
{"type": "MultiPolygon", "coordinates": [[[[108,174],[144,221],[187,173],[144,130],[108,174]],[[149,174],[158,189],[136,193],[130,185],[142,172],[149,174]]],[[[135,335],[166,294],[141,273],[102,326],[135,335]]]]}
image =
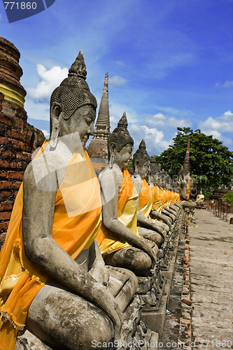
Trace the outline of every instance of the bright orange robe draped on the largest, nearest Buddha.
{"type": "MultiPolygon", "coordinates": [[[[48,141],[45,141],[36,158],[44,151],[47,144],[48,141]]],[[[1,350],[15,348],[17,330],[24,327],[32,300],[50,279],[48,274],[27,259],[24,252],[22,185],[15,199],[6,241],[0,253],[1,350]]],[[[87,153],[85,152],[85,158],[79,153],[74,153],[66,168],[64,180],[57,190],[52,238],[75,259],[80,251],[92,244],[100,225],[99,181],[87,153]],[[86,182],[83,182],[84,175],[86,182]],[[80,191],[80,188],[83,191],[80,191]],[[77,205],[91,210],[75,211],[77,205]]]]}

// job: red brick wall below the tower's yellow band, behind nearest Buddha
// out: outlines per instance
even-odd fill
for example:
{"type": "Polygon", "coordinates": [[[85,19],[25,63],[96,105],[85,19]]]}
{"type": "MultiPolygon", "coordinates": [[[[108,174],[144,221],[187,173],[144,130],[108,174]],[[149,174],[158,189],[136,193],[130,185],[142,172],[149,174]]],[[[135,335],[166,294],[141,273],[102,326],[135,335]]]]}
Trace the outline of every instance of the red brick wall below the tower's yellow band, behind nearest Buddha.
{"type": "Polygon", "coordinates": [[[27,123],[24,109],[0,92],[0,248],[24,170],[44,139],[41,130],[27,123]]]}

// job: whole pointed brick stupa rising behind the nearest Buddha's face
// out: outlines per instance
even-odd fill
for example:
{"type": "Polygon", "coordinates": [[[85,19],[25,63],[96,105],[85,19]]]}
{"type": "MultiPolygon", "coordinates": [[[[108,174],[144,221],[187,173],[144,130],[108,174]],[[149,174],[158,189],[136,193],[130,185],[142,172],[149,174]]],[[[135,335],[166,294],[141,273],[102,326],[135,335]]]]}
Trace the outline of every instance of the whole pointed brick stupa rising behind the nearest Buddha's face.
{"type": "Polygon", "coordinates": [[[106,166],[108,162],[108,137],[110,130],[109,106],[108,106],[108,73],[104,79],[104,89],[102,93],[101,103],[97,123],[95,125],[94,137],[88,147],[88,153],[94,168],[106,166]]]}

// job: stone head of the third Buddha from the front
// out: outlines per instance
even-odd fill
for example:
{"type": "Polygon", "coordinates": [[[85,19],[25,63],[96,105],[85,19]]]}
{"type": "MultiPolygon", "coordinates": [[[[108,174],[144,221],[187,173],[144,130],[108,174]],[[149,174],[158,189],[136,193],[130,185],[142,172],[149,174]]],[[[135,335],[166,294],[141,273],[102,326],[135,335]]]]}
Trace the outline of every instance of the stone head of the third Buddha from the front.
{"type": "Polygon", "coordinates": [[[133,158],[133,174],[136,177],[137,174],[144,179],[150,172],[150,156],[146,152],[146,144],[144,139],[141,140],[139,149],[134,153],[133,158]]]}

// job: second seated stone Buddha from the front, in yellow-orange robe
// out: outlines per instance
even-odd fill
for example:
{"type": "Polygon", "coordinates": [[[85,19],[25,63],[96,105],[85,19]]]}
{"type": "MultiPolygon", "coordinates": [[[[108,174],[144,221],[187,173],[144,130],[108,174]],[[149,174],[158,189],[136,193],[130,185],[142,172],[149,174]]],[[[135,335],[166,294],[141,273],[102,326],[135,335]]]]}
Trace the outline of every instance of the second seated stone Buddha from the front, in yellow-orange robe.
{"type": "Polygon", "coordinates": [[[133,145],[124,113],[108,139],[109,164],[99,174],[103,222],[97,241],[106,264],[147,276],[155,265],[158,248],[137,230],[139,194],[126,169],[133,145]]]}

